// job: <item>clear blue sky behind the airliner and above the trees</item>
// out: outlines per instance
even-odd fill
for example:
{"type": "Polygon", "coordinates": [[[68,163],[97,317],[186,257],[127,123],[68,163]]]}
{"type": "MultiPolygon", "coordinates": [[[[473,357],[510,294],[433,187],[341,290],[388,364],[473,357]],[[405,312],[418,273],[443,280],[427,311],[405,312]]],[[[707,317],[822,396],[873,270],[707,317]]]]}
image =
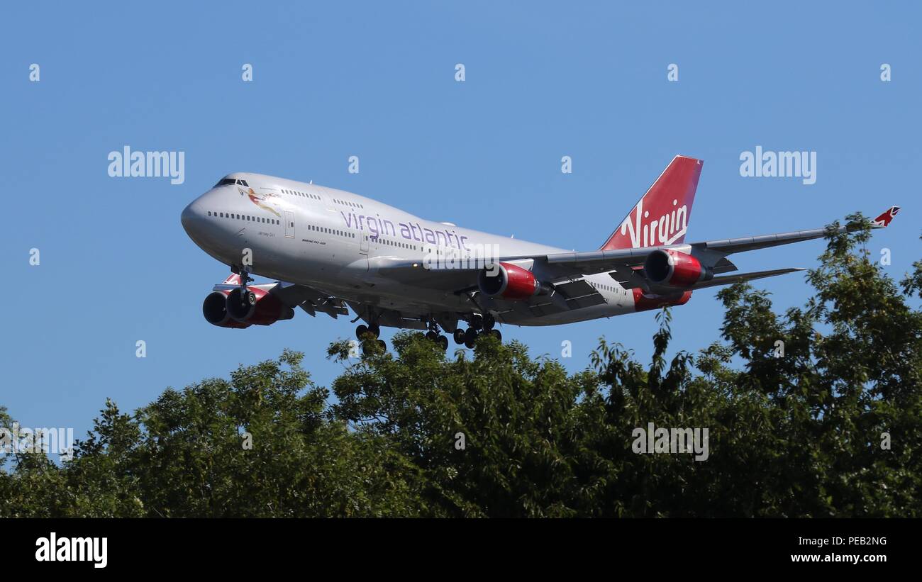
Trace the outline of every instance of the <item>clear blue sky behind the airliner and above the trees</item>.
{"type": "MultiPolygon", "coordinates": [[[[919,258],[920,9],[910,3],[16,3],[0,35],[6,277],[0,404],[82,436],[105,399],[125,411],[306,354],[320,384],[348,320],[245,331],[208,325],[226,268],[180,225],[231,171],[358,192],[423,217],[594,250],[676,154],[705,160],[688,240],[820,227],[903,206],[869,249],[899,278],[919,258]],[[30,64],[41,80],[30,82],[30,64]],[[242,82],[242,65],[254,80],[242,82]],[[466,80],[455,82],[455,64],[466,80]],[[881,81],[881,64],[892,81],[881,81]],[[679,65],[679,81],[667,79],[679,65]],[[110,178],[109,152],[185,152],[185,181],[110,178]],[[817,180],[743,178],[739,155],[817,152],[817,180]],[[361,172],[348,172],[349,156],[361,172]],[[573,173],[561,173],[561,157],[573,173]],[[30,266],[29,252],[41,251],[30,266]],[[137,358],[136,341],[148,356],[137,358]]],[[[822,241],[737,256],[741,270],[813,267],[822,241]]],[[[756,286],[776,308],[803,275],[756,286]]],[[[674,311],[673,346],[718,336],[715,291],[674,311]]],[[[534,355],[587,365],[597,338],[648,360],[654,313],[504,327],[534,355]]],[[[389,333],[388,333],[389,336],[389,333]]]]}

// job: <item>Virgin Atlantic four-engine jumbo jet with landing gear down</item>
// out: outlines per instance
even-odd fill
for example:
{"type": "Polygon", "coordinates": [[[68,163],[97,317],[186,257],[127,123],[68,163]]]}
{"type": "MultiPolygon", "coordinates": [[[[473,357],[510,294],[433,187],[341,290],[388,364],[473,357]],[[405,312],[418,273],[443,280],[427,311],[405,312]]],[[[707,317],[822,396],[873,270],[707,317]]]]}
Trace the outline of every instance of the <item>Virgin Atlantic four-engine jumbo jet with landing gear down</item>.
{"type": "MultiPolygon", "coordinates": [[[[675,157],[598,250],[573,251],[432,222],[350,192],[233,173],[183,210],[195,244],[231,267],[205,298],[225,328],[290,320],[295,308],[336,319],[355,312],[369,349],[381,326],[427,330],[473,347],[496,323],[558,325],[669,305],[691,292],[786,274],[727,274],[727,256],[801,240],[825,228],[685,242],[703,162],[675,157]],[[250,285],[250,274],[276,283],[250,285]],[[462,327],[461,322],[465,325],[462,327]]],[[[899,207],[872,221],[886,227],[899,207]]],[[[842,227],[845,231],[849,227],[842,227]]],[[[854,228],[854,227],[851,227],[854,228]]]]}

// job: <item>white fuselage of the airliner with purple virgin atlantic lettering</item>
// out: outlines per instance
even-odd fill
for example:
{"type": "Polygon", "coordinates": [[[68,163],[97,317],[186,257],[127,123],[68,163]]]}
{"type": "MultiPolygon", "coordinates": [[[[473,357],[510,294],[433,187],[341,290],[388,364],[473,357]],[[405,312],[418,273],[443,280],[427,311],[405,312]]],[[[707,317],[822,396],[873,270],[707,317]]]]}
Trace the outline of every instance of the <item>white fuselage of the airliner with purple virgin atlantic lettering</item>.
{"type": "MultiPolygon", "coordinates": [[[[313,183],[235,173],[183,211],[183,227],[209,255],[252,273],[299,285],[405,317],[470,310],[464,294],[401,284],[377,273],[388,260],[432,256],[536,255],[566,252],[470,228],[425,220],[351,192],[313,183]],[[245,185],[242,185],[245,184],[245,185]]],[[[432,277],[440,276],[433,272],[432,277]]],[[[632,290],[609,274],[585,276],[605,302],[535,317],[508,312],[516,325],[554,325],[635,311],[632,290]]]]}

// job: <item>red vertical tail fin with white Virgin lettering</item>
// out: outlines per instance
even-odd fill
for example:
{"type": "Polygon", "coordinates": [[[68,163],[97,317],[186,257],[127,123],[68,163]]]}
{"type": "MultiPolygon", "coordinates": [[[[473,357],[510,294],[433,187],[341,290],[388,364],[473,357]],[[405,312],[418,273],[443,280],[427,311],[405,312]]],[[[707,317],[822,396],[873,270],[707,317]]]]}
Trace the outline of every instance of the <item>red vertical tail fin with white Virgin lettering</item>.
{"type": "Polygon", "coordinates": [[[673,157],[599,250],[641,249],[683,242],[703,164],[693,157],[673,157]]]}

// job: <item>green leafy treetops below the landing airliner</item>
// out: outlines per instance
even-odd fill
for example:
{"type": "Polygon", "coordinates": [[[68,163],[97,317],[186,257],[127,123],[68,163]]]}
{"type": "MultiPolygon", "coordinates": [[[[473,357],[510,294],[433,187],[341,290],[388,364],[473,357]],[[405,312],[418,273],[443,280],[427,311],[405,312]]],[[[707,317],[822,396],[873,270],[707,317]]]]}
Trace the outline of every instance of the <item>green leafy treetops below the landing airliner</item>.
{"type": "Polygon", "coordinates": [[[520,343],[445,355],[401,332],[358,361],[332,344],[329,403],[286,351],[135,414],[106,402],[61,465],[13,455],[0,516],[918,517],[922,262],[895,284],[849,219],[802,308],[727,287],[698,355],[667,357],[668,309],[649,364],[603,338],[576,374],[520,343]],[[708,458],[635,453],[649,423],[708,428],[708,458]]]}

